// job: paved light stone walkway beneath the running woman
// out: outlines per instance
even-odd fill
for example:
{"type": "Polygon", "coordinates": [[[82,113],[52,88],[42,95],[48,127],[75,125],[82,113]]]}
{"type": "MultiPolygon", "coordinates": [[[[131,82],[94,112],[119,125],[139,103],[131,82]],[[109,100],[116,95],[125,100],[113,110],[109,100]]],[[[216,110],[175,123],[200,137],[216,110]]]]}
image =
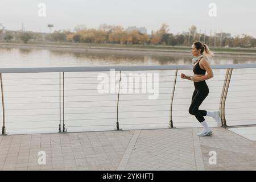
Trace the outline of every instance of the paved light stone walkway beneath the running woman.
{"type": "Polygon", "coordinates": [[[200,131],[0,135],[0,170],[256,170],[255,142],[223,128],[210,137],[200,131]]]}

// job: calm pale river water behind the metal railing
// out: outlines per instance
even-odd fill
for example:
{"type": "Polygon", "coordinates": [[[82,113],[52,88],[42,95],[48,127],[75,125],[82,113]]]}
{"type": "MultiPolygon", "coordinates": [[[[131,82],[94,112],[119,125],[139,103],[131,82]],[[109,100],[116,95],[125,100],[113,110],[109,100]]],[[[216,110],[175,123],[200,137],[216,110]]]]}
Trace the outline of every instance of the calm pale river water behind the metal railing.
{"type": "MultiPolygon", "coordinates": [[[[0,48],[1,68],[185,65],[191,64],[191,59],[192,57],[189,54],[161,56],[0,48]]],[[[249,58],[217,56],[210,60],[210,64],[238,63],[256,63],[256,61],[249,58]]],[[[255,68],[233,70],[225,106],[228,126],[256,123],[255,71],[255,68]]],[[[181,72],[186,75],[192,75],[192,71],[188,70],[178,71],[178,75],[181,72]]],[[[226,70],[214,70],[213,72],[214,77],[207,81],[210,93],[200,109],[218,110],[226,70]]],[[[65,127],[69,132],[114,130],[115,122],[117,122],[118,92],[104,94],[98,92],[100,81],[97,78],[100,73],[64,73],[64,106],[62,97],[63,80],[62,78],[60,80],[60,73],[3,73],[7,133],[55,133],[59,131],[60,120],[62,130],[63,112],[65,127]]],[[[104,73],[110,75],[109,72],[104,73]]],[[[121,88],[127,82],[125,77],[129,73],[134,72],[122,72],[121,88]]],[[[157,79],[154,80],[154,77],[152,77],[153,91],[158,97],[150,100],[148,99],[150,93],[142,93],[140,91],[134,93],[134,90],[133,92],[121,93],[118,103],[119,127],[123,130],[168,128],[170,98],[175,71],[143,71],[136,73],[147,76],[155,74],[158,77],[158,84],[155,84],[157,79]]],[[[117,91],[119,85],[117,72],[115,72],[115,76],[117,76],[115,82],[117,91]]],[[[200,126],[196,118],[188,113],[192,93],[193,83],[188,80],[181,80],[178,76],[172,107],[174,127],[200,126]]],[[[215,126],[212,118],[205,118],[210,126],[215,126]]],[[[2,121],[0,122],[2,128],[2,121]]]]}

